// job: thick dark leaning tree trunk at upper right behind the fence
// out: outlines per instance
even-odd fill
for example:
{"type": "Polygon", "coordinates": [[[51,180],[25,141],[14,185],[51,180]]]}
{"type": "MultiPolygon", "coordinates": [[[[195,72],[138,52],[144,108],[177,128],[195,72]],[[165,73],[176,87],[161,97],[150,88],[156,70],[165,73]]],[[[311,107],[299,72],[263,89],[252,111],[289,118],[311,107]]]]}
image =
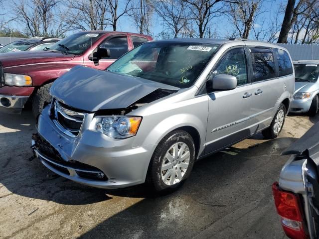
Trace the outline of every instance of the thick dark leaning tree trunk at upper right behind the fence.
{"type": "Polygon", "coordinates": [[[296,0],[288,0],[277,43],[288,42],[289,32],[295,24],[298,16],[305,13],[309,8],[312,8],[316,1],[317,0],[299,0],[295,6],[296,0]]]}

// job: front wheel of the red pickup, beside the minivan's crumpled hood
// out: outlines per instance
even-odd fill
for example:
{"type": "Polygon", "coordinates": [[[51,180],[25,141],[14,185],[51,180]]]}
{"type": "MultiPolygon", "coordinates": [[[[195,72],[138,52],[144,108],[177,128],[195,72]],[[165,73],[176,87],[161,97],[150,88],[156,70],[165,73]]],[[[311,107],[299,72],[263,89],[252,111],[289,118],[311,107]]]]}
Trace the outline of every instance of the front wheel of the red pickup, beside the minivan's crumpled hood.
{"type": "Polygon", "coordinates": [[[50,104],[52,97],[49,94],[49,90],[52,84],[53,83],[49,83],[40,87],[34,94],[32,99],[32,113],[35,118],[37,118],[41,114],[43,108],[47,104],[50,104]]]}

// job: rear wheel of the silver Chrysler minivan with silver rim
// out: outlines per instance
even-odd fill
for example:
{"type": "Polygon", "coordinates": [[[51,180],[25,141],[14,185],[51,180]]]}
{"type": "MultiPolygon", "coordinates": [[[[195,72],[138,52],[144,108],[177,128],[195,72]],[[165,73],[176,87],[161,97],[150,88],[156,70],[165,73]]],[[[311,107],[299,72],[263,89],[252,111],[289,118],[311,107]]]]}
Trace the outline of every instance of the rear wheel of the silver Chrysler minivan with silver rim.
{"type": "Polygon", "coordinates": [[[277,136],[280,134],[281,130],[283,129],[284,127],[284,123],[285,123],[285,119],[286,119],[286,113],[287,113],[287,110],[286,110],[286,107],[284,104],[280,104],[276,114],[275,114],[275,117],[273,119],[273,121],[271,122],[270,126],[266,129],[264,129],[262,131],[262,134],[264,135],[264,137],[266,139],[274,139],[274,138],[277,138],[277,136]],[[280,122],[279,123],[279,128],[277,128],[278,126],[278,117],[280,117],[280,122]]]}

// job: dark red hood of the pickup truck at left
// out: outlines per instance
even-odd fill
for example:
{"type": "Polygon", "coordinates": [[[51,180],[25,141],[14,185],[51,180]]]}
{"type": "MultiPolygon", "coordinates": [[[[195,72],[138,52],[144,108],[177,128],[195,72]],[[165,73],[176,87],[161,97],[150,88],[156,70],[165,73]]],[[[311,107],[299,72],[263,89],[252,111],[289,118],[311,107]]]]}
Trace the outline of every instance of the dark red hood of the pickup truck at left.
{"type": "Polygon", "coordinates": [[[43,62],[53,61],[69,61],[72,60],[75,55],[65,55],[61,52],[51,51],[19,51],[19,52],[7,52],[0,54],[0,62],[2,66],[18,66],[28,65],[43,62]]]}

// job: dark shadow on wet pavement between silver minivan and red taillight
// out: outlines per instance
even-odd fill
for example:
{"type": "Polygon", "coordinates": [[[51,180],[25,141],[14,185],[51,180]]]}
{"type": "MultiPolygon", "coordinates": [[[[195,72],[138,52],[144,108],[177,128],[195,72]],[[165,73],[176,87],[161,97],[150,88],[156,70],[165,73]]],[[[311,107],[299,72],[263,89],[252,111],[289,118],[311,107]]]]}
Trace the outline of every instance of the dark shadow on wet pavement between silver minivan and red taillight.
{"type": "MultiPolygon", "coordinates": [[[[230,147],[202,159],[195,163],[189,179],[177,192],[146,198],[81,238],[193,238],[221,220],[225,220],[223,227],[233,227],[237,233],[248,233],[252,238],[282,238],[271,185],[288,159],[280,156],[281,151],[295,140],[277,138],[247,149],[230,147]],[[251,215],[252,210],[256,212],[246,221],[245,215],[251,215]],[[238,222],[242,225],[236,228],[238,222]],[[268,229],[269,234],[259,235],[258,227],[268,229]]],[[[148,196],[141,187],[106,192],[122,197],[148,196]]],[[[220,238],[229,237],[223,234],[220,238]]],[[[241,236],[237,234],[235,238],[241,236]]]]}

